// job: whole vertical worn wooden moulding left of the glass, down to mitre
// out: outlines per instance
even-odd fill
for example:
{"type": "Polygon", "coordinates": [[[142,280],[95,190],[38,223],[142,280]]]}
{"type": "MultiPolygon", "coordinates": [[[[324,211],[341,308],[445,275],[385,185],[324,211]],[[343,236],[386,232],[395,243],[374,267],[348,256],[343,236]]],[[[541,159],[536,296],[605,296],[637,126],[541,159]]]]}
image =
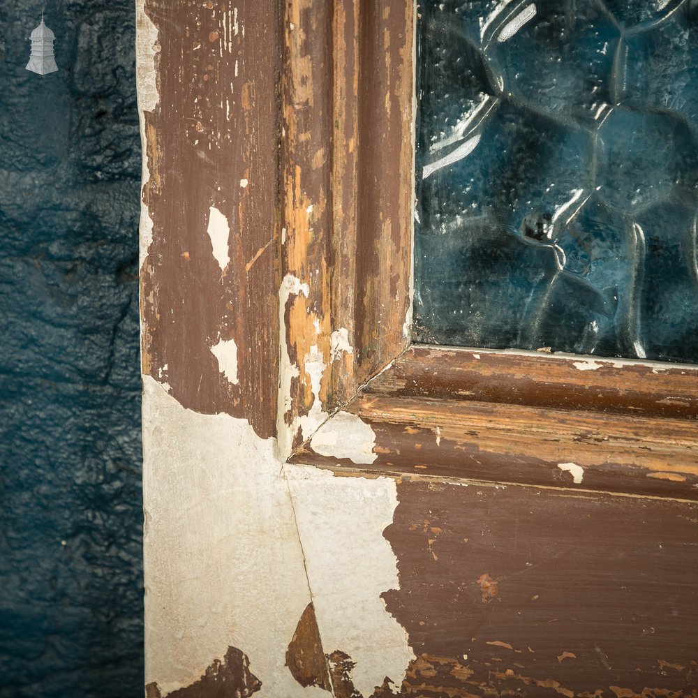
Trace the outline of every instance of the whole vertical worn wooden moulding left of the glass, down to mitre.
{"type": "Polygon", "coordinates": [[[397,0],[285,3],[283,453],[409,341],[412,23],[397,0]]]}

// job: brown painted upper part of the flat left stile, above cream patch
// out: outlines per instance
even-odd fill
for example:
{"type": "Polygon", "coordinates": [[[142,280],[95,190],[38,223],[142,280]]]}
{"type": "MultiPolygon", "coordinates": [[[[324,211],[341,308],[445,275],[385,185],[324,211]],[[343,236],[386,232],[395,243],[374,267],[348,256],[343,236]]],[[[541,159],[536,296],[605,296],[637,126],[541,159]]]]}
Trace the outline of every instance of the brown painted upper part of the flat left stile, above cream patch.
{"type": "Polygon", "coordinates": [[[144,114],[153,239],[141,270],[143,370],[186,408],[244,417],[267,438],[276,422],[278,269],[275,255],[246,265],[278,233],[269,135],[279,124],[279,6],[146,0],[145,10],[158,29],[157,65],[167,68],[156,69],[158,105],[144,114]],[[245,36],[232,31],[234,16],[245,36]],[[207,234],[211,206],[230,225],[223,274],[207,234]],[[211,353],[230,339],[235,385],[211,353]]]}

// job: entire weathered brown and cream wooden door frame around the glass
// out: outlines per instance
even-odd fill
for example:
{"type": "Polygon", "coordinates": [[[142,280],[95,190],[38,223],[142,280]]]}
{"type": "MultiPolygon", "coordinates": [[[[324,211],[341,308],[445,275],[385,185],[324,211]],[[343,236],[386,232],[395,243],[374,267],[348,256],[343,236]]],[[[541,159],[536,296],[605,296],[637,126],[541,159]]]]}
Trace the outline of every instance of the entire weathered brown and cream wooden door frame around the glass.
{"type": "Polygon", "coordinates": [[[406,346],[412,3],[144,10],[148,695],[698,695],[693,374],[413,348],[312,450],[406,346]]]}

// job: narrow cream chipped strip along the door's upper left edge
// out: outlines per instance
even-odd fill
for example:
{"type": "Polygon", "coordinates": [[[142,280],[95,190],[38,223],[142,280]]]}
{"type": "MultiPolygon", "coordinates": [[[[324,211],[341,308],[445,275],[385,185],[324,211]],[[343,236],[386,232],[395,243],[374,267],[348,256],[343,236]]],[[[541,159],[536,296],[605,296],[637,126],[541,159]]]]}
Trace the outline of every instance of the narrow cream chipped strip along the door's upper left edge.
{"type": "MultiPolygon", "coordinates": [[[[140,122],[140,143],[144,153],[148,151],[145,135],[145,113],[152,112],[158,105],[158,85],[155,76],[155,57],[160,50],[158,29],[151,22],[144,10],[145,0],[136,1],[136,50],[135,70],[138,93],[138,117],[140,122]]],[[[142,268],[148,255],[148,248],[153,242],[153,219],[143,202],[142,193],[150,180],[148,158],[142,158],[141,165],[141,203],[140,203],[140,252],[138,267],[142,268]]]]}

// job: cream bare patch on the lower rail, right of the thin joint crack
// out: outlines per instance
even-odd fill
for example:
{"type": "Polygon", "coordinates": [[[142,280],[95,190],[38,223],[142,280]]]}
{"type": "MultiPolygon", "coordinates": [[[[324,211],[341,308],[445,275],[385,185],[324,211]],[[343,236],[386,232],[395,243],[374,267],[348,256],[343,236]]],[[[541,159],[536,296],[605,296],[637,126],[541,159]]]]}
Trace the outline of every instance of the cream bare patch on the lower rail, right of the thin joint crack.
{"type": "Polygon", "coordinates": [[[311,466],[283,466],[313,590],[322,646],[348,653],[364,696],[388,676],[401,685],[415,658],[404,628],[381,593],[399,588],[396,558],[383,530],[397,506],[394,480],[335,477],[311,466]]]}

